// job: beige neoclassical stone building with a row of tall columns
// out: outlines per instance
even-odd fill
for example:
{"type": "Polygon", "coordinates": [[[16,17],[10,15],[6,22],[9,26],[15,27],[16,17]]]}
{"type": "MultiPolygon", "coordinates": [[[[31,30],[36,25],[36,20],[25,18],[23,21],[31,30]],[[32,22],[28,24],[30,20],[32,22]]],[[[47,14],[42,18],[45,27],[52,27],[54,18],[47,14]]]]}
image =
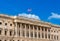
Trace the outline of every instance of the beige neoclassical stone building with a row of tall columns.
{"type": "Polygon", "coordinates": [[[60,41],[60,26],[0,14],[0,41],[60,41]]]}

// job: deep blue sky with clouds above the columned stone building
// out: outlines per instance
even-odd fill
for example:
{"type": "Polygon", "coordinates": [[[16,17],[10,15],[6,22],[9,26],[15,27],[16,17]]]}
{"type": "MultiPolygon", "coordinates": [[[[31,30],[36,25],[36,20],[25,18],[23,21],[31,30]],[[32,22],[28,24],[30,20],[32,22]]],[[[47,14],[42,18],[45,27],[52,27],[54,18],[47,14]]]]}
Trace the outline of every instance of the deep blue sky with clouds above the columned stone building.
{"type": "Polygon", "coordinates": [[[60,0],[0,0],[0,14],[22,13],[60,25],[60,0]]]}

